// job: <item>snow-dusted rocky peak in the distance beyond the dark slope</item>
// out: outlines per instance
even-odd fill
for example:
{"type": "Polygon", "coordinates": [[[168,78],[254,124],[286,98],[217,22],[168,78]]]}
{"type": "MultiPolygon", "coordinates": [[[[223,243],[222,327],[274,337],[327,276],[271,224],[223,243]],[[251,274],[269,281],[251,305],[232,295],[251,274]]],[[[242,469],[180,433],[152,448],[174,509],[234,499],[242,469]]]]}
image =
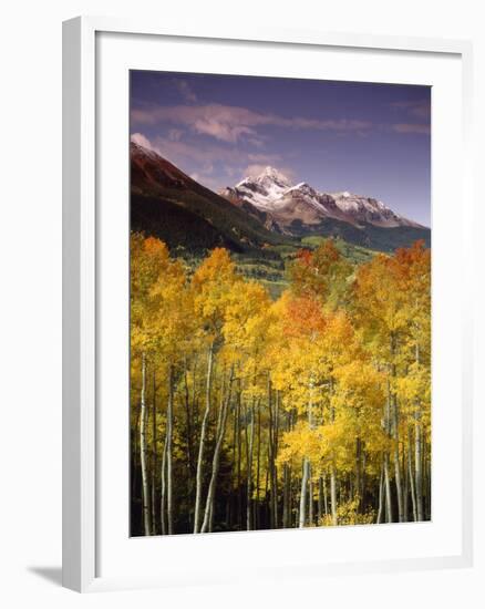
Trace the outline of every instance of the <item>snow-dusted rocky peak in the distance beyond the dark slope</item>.
{"type": "Polygon", "coordinates": [[[302,226],[312,230],[328,218],[355,227],[421,228],[417,223],[400,216],[375,198],[348,192],[321,193],[305,182],[292,185],[274,167],[266,167],[256,177],[245,177],[219,194],[239,207],[249,204],[255,213],[265,213],[266,226],[274,230],[278,227],[282,233],[291,233],[292,225],[297,225],[299,231],[302,226]]]}

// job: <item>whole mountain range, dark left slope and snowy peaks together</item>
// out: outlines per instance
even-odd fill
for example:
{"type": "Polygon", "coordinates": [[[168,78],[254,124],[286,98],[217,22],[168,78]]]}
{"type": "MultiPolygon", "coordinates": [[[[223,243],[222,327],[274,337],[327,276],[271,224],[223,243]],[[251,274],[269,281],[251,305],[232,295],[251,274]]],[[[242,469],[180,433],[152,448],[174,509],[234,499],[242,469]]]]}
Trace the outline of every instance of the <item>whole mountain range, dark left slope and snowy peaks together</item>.
{"type": "Polygon", "coordinates": [[[292,185],[270,167],[221,194],[158,153],[131,143],[131,228],[158,237],[171,249],[199,255],[225,247],[274,258],[275,247],[295,248],[309,234],[378,251],[394,251],[417,239],[431,246],[429,228],[413,225],[375,199],[292,185]]]}

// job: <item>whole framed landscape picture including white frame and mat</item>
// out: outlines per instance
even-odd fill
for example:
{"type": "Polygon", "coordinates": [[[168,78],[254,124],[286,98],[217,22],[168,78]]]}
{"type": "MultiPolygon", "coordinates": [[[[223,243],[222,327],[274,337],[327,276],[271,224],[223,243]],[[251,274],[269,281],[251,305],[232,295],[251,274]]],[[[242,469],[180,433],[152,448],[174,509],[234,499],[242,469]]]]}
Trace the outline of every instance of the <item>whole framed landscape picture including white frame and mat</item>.
{"type": "Polygon", "coordinates": [[[64,585],[471,565],[469,45],[63,59],[64,585]]]}

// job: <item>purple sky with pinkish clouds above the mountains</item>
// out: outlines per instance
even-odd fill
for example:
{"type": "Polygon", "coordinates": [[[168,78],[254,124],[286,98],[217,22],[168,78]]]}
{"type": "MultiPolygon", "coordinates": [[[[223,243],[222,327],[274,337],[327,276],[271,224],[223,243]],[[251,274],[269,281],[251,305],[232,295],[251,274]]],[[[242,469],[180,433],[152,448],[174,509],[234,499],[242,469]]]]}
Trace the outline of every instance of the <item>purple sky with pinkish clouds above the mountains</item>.
{"type": "Polygon", "coordinates": [[[131,134],[218,190],[267,165],[430,226],[431,87],[131,72],[131,134]]]}

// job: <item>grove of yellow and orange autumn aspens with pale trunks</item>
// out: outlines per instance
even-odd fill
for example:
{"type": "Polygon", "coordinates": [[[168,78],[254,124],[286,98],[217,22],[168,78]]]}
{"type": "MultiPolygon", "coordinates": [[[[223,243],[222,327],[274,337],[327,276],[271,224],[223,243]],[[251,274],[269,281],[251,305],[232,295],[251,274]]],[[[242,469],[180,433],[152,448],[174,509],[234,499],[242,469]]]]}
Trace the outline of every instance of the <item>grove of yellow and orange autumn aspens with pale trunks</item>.
{"type": "Polygon", "coordinates": [[[132,535],[430,519],[430,250],[231,256],[132,234],[132,535]]]}

